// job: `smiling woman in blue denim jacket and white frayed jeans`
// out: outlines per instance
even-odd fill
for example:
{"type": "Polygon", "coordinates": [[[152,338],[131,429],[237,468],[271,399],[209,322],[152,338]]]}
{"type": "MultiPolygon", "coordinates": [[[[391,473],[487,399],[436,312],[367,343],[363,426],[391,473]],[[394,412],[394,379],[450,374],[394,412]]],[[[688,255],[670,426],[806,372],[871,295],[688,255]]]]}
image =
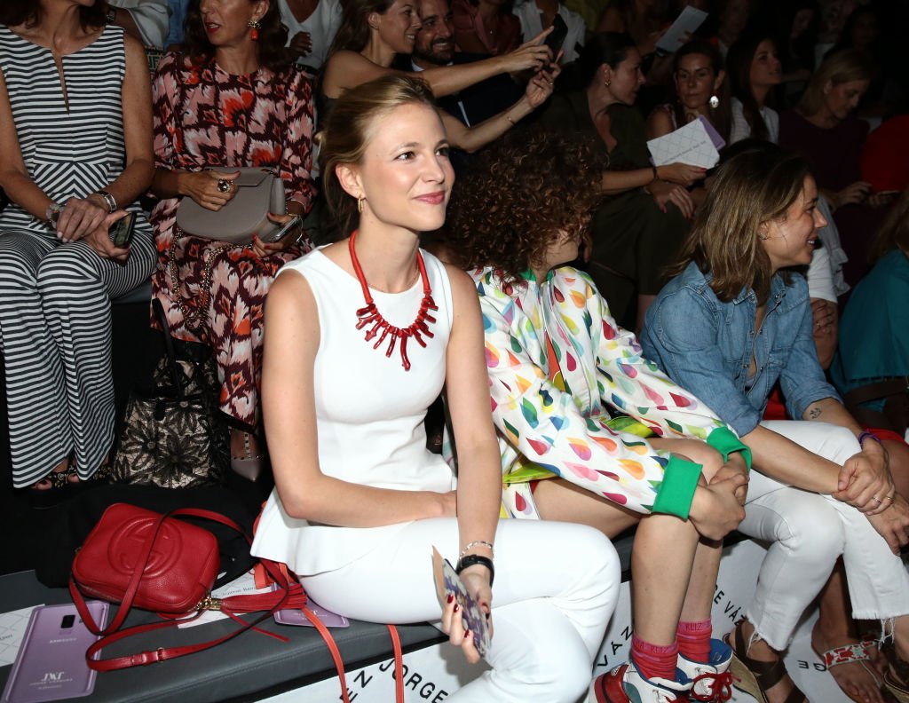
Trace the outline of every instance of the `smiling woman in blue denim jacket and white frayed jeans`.
{"type": "MultiPolygon", "coordinates": [[[[786,270],[811,262],[816,230],[826,224],[816,202],[801,158],[754,150],[730,159],[698,211],[680,275],[657,296],[641,336],[644,355],[752,450],[740,530],[772,544],[747,618],[730,636],[734,673],[758,700],[781,703],[804,697],[778,652],[841,554],[854,617],[890,620],[896,663],[909,656],[909,575],[896,556],[907,541],[909,507],[894,492],[884,450],[824,379],[807,285],[786,270]],[[761,421],[777,380],[800,420],[761,421]]],[[[832,644],[822,622],[813,646],[832,644]]],[[[825,659],[831,666],[863,658],[856,642],[825,659]]],[[[896,670],[888,686],[909,696],[896,670]]],[[[847,692],[880,699],[873,684],[854,688],[847,692]]]]}

